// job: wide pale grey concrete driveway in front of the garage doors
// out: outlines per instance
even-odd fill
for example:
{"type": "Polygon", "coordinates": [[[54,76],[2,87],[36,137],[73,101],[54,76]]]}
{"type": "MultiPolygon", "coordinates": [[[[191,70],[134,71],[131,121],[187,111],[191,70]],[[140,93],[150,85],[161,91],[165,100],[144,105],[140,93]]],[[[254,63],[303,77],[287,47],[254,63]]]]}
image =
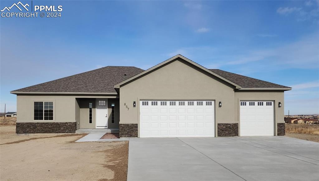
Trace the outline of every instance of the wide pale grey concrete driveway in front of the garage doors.
{"type": "Polygon", "coordinates": [[[318,180],[319,143],[285,136],[130,139],[128,181],[318,180]]]}

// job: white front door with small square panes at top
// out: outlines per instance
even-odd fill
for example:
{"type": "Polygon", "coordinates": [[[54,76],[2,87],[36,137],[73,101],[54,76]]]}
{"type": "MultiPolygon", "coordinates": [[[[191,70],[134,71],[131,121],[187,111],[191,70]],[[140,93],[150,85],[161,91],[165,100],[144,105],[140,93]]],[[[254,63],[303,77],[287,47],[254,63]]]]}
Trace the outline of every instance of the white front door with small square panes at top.
{"type": "Polygon", "coordinates": [[[96,99],[96,128],[108,128],[108,99],[96,99]]]}

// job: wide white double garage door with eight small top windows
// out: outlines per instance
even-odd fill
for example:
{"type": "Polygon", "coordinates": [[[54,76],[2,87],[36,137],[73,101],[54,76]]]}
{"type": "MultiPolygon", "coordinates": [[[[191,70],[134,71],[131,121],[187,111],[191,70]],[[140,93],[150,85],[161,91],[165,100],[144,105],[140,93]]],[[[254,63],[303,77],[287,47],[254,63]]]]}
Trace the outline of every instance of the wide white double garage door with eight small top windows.
{"type": "Polygon", "coordinates": [[[214,137],[214,101],[141,100],[140,137],[214,137]]]}

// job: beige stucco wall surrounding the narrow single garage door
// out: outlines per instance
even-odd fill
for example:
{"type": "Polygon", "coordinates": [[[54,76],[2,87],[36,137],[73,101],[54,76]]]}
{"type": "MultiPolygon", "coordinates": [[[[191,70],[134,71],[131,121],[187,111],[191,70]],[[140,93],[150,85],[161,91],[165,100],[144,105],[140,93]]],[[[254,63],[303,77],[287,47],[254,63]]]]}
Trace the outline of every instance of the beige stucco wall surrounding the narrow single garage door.
{"type": "MultiPolygon", "coordinates": [[[[240,101],[245,100],[261,100],[261,101],[274,101],[275,109],[275,135],[277,135],[277,123],[285,123],[284,120],[284,91],[235,91],[234,97],[234,115],[235,120],[239,122],[240,127],[240,101]],[[278,102],[281,102],[282,106],[278,107],[278,102]]],[[[240,135],[240,129],[239,129],[240,135]]]]}

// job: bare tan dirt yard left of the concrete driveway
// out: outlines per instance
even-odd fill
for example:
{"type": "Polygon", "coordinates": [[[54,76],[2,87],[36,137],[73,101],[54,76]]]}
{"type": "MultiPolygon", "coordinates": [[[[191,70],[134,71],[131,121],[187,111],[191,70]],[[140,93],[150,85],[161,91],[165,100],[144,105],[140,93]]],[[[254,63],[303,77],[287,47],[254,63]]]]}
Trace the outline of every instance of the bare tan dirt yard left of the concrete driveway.
{"type": "Polygon", "coordinates": [[[85,134],[17,136],[0,127],[0,180],[126,180],[128,141],[74,142],[85,134]]]}

